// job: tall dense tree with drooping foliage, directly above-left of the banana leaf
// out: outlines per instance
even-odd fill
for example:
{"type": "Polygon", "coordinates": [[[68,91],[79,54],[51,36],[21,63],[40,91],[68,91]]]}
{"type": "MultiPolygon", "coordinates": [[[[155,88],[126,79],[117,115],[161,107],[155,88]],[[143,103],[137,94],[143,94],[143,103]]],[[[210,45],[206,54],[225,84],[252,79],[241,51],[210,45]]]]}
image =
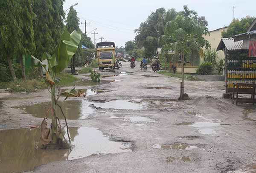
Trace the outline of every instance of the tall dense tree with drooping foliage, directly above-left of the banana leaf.
{"type": "MultiPolygon", "coordinates": [[[[53,53],[63,30],[63,0],[34,0],[33,21],[35,37],[35,56],[41,58],[44,52],[53,53]]],[[[42,75],[41,66],[39,72],[42,75]]]]}

